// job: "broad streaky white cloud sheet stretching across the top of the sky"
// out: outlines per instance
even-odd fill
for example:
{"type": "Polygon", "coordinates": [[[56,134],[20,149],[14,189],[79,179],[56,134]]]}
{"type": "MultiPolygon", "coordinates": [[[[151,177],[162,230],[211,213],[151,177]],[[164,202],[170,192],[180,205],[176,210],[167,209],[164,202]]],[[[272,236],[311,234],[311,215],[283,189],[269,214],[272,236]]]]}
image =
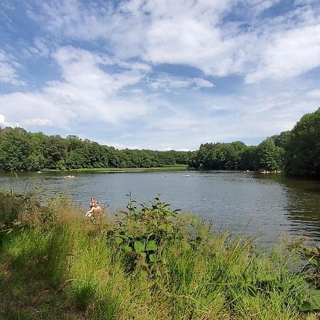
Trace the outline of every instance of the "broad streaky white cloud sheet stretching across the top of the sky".
{"type": "Polygon", "coordinates": [[[299,0],[282,16],[260,18],[275,4],[279,0],[131,0],[114,7],[71,0],[39,2],[40,14],[29,15],[60,38],[103,39],[118,59],[191,65],[207,75],[245,75],[253,83],[320,65],[319,4],[299,0]],[[238,5],[248,21],[225,23],[238,5]]]}

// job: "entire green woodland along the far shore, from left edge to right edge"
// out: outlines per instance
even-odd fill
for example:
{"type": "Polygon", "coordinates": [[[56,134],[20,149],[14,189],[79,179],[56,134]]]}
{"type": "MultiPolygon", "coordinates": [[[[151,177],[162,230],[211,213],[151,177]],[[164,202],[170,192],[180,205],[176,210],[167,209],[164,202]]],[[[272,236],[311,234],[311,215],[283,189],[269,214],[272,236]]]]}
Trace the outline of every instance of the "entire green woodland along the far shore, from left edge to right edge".
{"type": "Polygon", "coordinates": [[[150,168],[188,164],[193,169],[281,170],[320,176],[320,109],[305,114],[291,131],[268,137],[258,146],[243,142],[206,143],[197,151],[115,149],[75,136],[0,128],[0,170],[150,168]]]}

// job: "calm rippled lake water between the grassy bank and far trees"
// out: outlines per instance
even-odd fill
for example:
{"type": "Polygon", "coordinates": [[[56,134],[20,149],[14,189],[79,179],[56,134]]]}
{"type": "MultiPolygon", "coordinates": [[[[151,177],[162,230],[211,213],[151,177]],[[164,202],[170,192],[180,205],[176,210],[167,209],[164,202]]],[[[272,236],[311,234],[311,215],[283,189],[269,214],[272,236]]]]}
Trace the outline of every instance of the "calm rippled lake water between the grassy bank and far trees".
{"type": "Polygon", "coordinates": [[[272,242],[279,235],[306,235],[320,242],[320,181],[242,172],[154,171],[0,175],[0,187],[42,196],[66,193],[87,208],[91,196],[112,210],[125,208],[127,194],[149,203],[159,193],[171,208],[213,220],[216,228],[272,242]],[[190,174],[190,177],[183,177],[190,174]]]}

